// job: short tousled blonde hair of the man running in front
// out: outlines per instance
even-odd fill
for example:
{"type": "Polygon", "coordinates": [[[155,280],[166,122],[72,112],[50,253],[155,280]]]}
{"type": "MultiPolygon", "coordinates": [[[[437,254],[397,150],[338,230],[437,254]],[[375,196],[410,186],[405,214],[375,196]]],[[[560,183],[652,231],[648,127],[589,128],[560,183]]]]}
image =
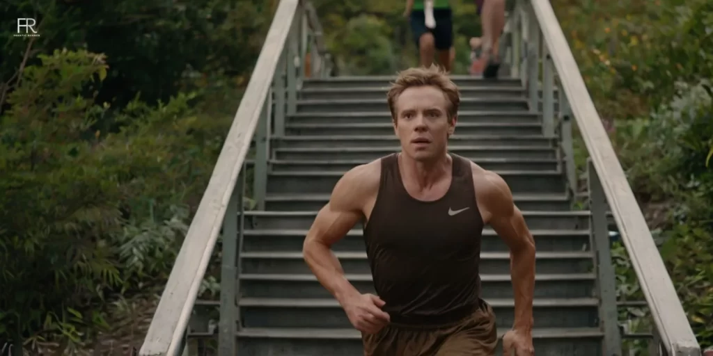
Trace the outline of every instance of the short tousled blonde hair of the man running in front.
{"type": "Polygon", "coordinates": [[[453,83],[453,80],[448,78],[448,73],[443,68],[431,65],[430,68],[419,67],[402,70],[394,83],[391,83],[391,88],[386,93],[386,101],[389,103],[392,120],[396,120],[396,100],[399,99],[401,93],[404,93],[407,88],[421,86],[436,87],[443,92],[446,100],[448,100],[448,108],[446,110],[448,121],[458,115],[458,106],[461,105],[461,93],[458,92],[456,83],[453,83]]]}

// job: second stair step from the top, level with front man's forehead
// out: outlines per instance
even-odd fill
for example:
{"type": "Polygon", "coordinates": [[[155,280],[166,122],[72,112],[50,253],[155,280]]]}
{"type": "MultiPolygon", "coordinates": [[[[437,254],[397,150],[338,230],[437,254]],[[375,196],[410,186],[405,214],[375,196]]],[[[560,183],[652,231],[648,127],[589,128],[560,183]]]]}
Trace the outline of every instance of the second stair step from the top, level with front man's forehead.
{"type": "MultiPolygon", "coordinates": [[[[380,87],[367,88],[304,88],[299,90],[300,99],[304,100],[319,100],[319,99],[384,99],[386,92],[389,91],[388,83],[380,87]]],[[[515,86],[502,85],[463,85],[458,87],[461,93],[461,98],[524,98],[526,89],[515,86]]]]}

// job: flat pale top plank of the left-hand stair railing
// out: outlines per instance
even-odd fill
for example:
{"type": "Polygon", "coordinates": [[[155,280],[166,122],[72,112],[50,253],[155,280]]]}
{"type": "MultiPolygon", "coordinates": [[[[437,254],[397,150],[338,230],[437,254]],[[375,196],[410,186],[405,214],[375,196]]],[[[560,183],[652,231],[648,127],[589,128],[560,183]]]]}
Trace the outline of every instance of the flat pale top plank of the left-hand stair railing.
{"type": "Polygon", "coordinates": [[[230,195],[242,169],[260,112],[294,21],[298,0],[281,0],[245,95],[220,151],[148,328],[142,356],[173,356],[180,349],[200,283],[212,256],[230,195]]]}

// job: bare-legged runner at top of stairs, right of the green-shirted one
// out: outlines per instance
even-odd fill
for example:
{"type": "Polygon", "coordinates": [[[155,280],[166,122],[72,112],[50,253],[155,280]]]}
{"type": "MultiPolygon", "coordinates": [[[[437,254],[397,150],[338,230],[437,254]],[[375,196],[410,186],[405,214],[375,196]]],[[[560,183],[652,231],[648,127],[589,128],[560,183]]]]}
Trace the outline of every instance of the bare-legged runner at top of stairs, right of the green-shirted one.
{"type": "Polygon", "coordinates": [[[483,53],[478,58],[480,63],[473,63],[473,68],[485,67],[483,78],[498,78],[500,36],[505,28],[505,0],[476,0],[476,7],[483,28],[483,53]]]}

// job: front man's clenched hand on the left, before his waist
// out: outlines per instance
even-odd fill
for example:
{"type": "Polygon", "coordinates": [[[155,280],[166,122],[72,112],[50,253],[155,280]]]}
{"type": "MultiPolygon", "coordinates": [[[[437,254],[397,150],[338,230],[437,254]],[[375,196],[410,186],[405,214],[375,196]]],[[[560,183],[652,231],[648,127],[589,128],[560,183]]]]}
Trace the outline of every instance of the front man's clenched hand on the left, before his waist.
{"type": "Polygon", "coordinates": [[[367,334],[376,334],[389,324],[389,314],[381,307],[384,300],[373,294],[358,294],[342,303],[344,311],[356,330],[367,334]]]}

